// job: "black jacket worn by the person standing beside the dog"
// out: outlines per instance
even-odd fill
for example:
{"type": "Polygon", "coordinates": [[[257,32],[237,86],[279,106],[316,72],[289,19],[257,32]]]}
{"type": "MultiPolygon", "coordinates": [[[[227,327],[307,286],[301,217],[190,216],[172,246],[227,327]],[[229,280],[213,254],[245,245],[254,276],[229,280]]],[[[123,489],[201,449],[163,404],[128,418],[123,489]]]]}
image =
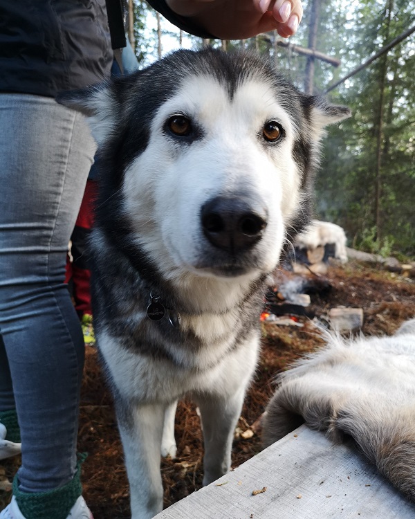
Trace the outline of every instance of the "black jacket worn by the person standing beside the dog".
{"type": "MultiPolygon", "coordinates": [[[[202,37],[164,0],[151,5],[202,37]]],[[[0,0],[0,92],[55,97],[109,76],[113,62],[105,0],[0,0]]]]}

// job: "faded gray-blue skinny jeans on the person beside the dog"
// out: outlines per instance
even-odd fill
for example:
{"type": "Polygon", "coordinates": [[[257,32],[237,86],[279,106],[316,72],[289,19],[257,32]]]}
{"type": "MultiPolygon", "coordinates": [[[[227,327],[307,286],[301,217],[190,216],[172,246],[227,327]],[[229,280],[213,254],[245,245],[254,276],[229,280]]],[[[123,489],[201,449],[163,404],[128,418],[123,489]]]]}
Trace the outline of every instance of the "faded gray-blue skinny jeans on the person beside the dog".
{"type": "Polygon", "coordinates": [[[21,491],[75,473],[84,342],[64,274],[94,152],[80,114],[0,94],[0,411],[17,409],[21,491]]]}

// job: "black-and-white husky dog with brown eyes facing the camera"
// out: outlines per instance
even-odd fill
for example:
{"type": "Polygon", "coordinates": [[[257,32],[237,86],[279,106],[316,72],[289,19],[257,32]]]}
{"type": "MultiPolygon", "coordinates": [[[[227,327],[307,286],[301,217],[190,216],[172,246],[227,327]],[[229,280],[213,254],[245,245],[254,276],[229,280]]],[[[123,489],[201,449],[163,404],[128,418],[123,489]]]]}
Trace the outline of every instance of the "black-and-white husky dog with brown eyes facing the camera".
{"type": "Polygon", "coordinates": [[[300,93],[255,55],[211,49],[60,102],[89,117],[98,143],[94,326],[132,517],[147,519],[162,509],[162,439],[174,455],[183,395],[201,410],[203,484],[230,469],[264,282],[307,220],[323,128],[349,109],[300,93]]]}

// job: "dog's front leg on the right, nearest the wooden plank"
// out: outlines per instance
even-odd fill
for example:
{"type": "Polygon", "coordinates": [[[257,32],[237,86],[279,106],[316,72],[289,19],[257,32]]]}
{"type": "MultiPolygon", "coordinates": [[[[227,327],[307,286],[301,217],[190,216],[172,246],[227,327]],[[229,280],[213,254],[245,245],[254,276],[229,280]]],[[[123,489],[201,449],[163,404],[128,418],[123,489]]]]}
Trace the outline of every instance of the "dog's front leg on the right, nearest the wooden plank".
{"type": "Polygon", "coordinates": [[[205,445],[203,485],[230,471],[232,440],[241,415],[244,394],[245,388],[233,397],[208,395],[198,399],[205,445]]]}

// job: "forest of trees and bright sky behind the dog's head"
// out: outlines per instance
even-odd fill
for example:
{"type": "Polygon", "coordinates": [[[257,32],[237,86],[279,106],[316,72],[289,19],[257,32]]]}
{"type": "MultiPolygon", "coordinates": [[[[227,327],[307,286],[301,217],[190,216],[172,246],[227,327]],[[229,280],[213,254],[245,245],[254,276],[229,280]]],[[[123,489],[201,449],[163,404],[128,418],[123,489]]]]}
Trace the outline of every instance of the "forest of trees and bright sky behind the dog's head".
{"type": "Polygon", "coordinates": [[[275,32],[232,42],[191,37],[145,1],[124,1],[140,66],[181,46],[252,48],[300,89],[349,106],[352,118],[324,141],[315,215],[342,226],[349,246],[415,257],[415,0],[304,0],[289,40],[275,32]]]}

